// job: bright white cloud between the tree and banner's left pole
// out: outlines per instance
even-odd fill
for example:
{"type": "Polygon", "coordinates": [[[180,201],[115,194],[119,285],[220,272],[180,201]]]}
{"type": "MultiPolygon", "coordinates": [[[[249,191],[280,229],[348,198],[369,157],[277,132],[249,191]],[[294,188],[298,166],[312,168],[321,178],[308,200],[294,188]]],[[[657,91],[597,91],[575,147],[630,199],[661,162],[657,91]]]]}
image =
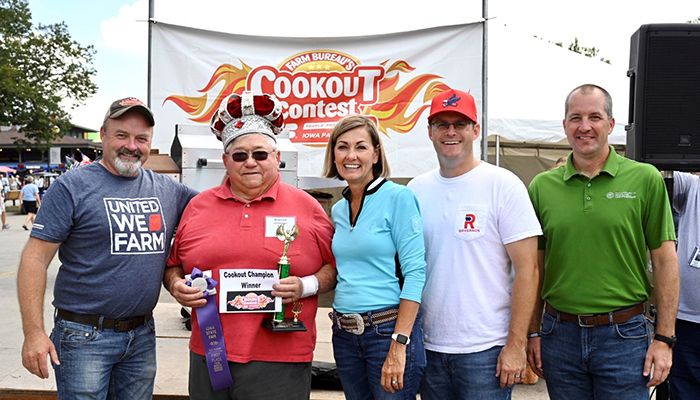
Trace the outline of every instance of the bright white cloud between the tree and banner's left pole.
{"type": "Polygon", "coordinates": [[[148,0],[136,0],[119,8],[116,16],[100,23],[105,50],[144,56],[148,51],[148,0]]]}

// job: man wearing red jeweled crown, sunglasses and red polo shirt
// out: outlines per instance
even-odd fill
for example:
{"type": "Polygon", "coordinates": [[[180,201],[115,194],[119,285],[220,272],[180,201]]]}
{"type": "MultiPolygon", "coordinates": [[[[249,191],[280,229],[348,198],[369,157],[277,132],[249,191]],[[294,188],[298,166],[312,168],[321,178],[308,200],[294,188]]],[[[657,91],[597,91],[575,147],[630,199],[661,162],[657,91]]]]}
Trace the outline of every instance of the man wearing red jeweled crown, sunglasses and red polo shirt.
{"type": "MultiPolygon", "coordinates": [[[[173,297],[194,309],[190,338],[191,399],[308,399],[310,396],[317,293],[332,289],[336,279],[331,252],[333,226],[313,197],[281,181],[276,135],[282,127],[279,101],[274,96],[251,92],[229,96],[212,118],[212,131],[223,143],[226,179],[190,202],[178,228],[164,278],[164,285],[173,297]],[[281,225],[287,231],[296,226],[299,233],[286,253],[291,263],[290,276],[280,279],[271,293],[281,297],[285,304],[294,304],[295,310],[301,309],[299,319],[308,330],[274,332],[262,326],[272,318],[270,313],[226,312],[226,300],[219,301],[219,296],[226,293],[219,291],[216,304],[221,307],[218,317],[225,342],[225,366],[233,383],[215,390],[210,367],[217,369],[219,364],[207,358],[211,341],[204,340],[207,338],[203,338],[199,329],[204,314],[201,310],[207,300],[195,285],[188,286],[184,276],[197,268],[205,274],[210,272],[211,280],[221,282],[227,276],[236,276],[222,273],[226,270],[276,271],[284,247],[277,237],[281,225]]],[[[225,286],[220,284],[220,287],[225,286]]],[[[291,309],[286,307],[286,317],[291,317],[291,309]]]]}

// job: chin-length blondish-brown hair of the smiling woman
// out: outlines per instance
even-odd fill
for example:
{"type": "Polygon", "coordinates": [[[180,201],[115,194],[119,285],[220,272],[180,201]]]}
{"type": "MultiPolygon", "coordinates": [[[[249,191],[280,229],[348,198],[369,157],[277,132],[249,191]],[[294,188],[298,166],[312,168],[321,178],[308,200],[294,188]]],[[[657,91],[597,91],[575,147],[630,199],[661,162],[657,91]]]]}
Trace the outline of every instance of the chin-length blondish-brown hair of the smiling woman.
{"type": "Polygon", "coordinates": [[[325,178],[338,178],[343,179],[340,174],[338,174],[338,168],[335,166],[335,149],[336,143],[338,143],[338,138],[344,133],[351,131],[355,128],[363,127],[369,133],[369,137],[372,140],[372,146],[379,153],[377,157],[377,162],[372,166],[372,175],[376,178],[382,176],[384,178],[389,177],[389,163],[386,160],[386,154],[384,153],[384,148],[381,146],[381,141],[379,140],[379,131],[374,121],[365,117],[363,115],[350,115],[347,116],[333,128],[330,139],[328,139],[328,146],[326,146],[326,159],[323,162],[323,176],[325,178]]]}

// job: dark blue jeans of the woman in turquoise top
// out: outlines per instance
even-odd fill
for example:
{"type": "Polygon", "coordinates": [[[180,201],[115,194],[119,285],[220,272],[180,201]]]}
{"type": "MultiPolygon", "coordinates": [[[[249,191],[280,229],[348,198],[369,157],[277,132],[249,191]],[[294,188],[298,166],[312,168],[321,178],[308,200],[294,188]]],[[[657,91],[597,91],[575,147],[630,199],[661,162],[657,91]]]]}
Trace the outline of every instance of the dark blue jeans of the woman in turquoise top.
{"type": "Polygon", "coordinates": [[[425,368],[423,329],[416,318],[411,341],[406,345],[404,387],[389,393],[381,385],[382,366],[391,345],[396,321],[368,326],[362,335],[346,332],[333,325],[333,355],[340,383],[347,400],[414,399],[425,368]]]}

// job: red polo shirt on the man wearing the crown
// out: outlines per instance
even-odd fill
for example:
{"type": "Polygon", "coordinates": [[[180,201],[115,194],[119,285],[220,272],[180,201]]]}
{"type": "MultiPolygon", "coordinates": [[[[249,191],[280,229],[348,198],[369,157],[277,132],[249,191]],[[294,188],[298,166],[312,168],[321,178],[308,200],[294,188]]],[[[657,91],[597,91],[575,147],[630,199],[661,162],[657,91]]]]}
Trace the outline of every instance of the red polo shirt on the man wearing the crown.
{"type": "MultiPolygon", "coordinates": [[[[299,236],[287,252],[290,275],[306,276],[324,264],[335,265],[331,252],[333,225],[321,205],[309,194],[281,183],[259,198],[245,201],[231,193],[229,180],[200,193],[182,215],[168,258],[168,267],[182,266],[186,274],[192,268],[211,270],[219,280],[220,269],[276,269],[283,242],[265,237],[266,217],[295,217],[299,236]]],[[[219,294],[217,307],[219,304],[219,294]]],[[[316,344],[318,297],[302,299],[300,319],[306,332],[273,333],[261,326],[270,313],[220,314],[229,361],[310,362],[316,344]]],[[[291,307],[285,312],[291,317],[291,307]]],[[[192,315],[190,349],[204,355],[204,344],[192,315]]]]}

